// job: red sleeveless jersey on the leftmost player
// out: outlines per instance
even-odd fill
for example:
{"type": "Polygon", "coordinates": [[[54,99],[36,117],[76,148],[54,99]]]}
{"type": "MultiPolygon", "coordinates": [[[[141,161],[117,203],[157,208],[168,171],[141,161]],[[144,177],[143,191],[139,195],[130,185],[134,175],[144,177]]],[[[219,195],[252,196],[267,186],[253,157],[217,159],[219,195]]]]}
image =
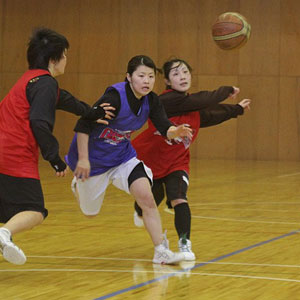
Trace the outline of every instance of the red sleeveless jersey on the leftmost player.
{"type": "Polygon", "coordinates": [[[0,102],[0,173],[39,179],[38,144],[30,127],[28,82],[46,70],[28,70],[0,102]]]}

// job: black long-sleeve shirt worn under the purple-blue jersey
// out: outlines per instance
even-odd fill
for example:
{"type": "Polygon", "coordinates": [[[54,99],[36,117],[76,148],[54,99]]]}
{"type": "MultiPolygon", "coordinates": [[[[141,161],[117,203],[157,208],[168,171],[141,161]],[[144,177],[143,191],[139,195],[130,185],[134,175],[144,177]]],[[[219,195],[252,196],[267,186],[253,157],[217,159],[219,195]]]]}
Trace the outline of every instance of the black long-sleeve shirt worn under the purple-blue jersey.
{"type": "MultiPolygon", "coordinates": [[[[125,85],[125,90],[128,104],[132,112],[137,115],[142,101],[135,97],[128,83],[125,85]]],[[[148,102],[150,120],[153,122],[156,129],[163,136],[166,136],[169,127],[173,125],[172,122],[168,120],[164,107],[161,104],[158,96],[154,92],[150,92],[148,94],[148,102]]],[[[115,111],[113,111],[113,113],[115,114],[115,118],[118,116],[121,107],[121,99],[117,90],[111,89],[109,91],[106,91],[104,95],[94,104],[94,106],[98,106],[101,103],[110,103],[110,105],[116,109],[115,111]]],[[[90,134],[96,126],[98,126],[97,123],[81,118],[77,121],[74,130],[76,132],[90,134]]]]}

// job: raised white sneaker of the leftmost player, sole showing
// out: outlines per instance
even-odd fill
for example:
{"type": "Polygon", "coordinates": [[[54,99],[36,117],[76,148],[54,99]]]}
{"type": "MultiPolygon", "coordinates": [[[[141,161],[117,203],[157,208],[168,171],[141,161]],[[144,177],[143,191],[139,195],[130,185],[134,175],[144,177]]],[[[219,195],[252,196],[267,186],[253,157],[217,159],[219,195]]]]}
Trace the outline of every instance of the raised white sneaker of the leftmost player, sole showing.
{"type": "Polygon", "coordinates": [[[11,234],[6,228],[0,228],[0,252],[12,264],[23,265],[26,262],[24,252],[11,241],[11,234]]]}

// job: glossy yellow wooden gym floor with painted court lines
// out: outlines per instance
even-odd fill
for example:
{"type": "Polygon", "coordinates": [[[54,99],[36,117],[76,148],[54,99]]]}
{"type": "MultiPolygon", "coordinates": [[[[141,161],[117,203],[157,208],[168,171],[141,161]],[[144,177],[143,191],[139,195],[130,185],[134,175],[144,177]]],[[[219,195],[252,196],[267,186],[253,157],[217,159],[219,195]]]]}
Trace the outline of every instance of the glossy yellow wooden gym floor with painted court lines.
{"type": "MultiPolygon", "coordinates": [[[[133,224],[133,200],[110,187],[87,219],[71,172],[41,162],[49,217],[14,242],[23,266],[0,256],[0,299],[300,299],[300,163],[193,160],[189,187],[195,263],[153,265],[153,247],[133,224]]],[[[160,212],[172,250],[173,215],[160,212]]]]}

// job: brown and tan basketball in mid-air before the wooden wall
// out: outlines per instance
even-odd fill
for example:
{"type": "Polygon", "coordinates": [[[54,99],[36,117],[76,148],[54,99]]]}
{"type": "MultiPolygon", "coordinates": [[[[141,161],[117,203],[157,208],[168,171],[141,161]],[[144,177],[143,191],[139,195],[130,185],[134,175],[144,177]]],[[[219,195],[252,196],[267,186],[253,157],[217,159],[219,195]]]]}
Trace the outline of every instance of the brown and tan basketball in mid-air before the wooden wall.
{"type": "Polygon", "coordinates": [[[251,26],[247,19],[236,12],[221,14],[212,26],[212,37],[223,50],[242,47],[249,40],[251,26]]]}

